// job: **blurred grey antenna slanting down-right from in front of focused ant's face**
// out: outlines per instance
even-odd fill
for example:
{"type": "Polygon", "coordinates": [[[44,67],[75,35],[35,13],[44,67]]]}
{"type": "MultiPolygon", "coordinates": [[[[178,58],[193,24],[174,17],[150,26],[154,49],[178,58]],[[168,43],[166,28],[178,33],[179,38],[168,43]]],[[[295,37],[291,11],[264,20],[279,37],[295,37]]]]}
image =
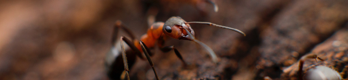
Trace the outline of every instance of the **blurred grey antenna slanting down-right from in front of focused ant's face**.
{"type": "Polygon", "coordinates": [[[212,50],[212,48],[208,47],[206,44],[198,41],[195,37],[192,36],[192,34],[189,32],[189,30],[187,30],[186,28],[183,28],[185,29],[186,33],[188,33],[190,39],[198,44],[200,44],[201,46],[203,46],[205,48],[206,51],[209,52],[210,56],[212,57],[213,59],[213,62],[214,63],[217,63],[217,56],[216,54],[214,53],[214,51],[212,50]]]}

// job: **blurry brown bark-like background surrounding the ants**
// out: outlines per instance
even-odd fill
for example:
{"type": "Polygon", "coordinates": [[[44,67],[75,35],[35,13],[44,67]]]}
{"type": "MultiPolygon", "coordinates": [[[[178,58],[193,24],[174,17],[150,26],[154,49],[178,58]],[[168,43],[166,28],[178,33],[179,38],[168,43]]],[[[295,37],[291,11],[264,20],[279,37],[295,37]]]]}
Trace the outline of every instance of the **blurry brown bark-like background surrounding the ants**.
{"type": "MultiPolygon", "coordinates": [[[[148,29],[153,8],[158,10],[156,21],[180,16],[247,35],[191,25],[220,62],[213,64],[194,42],[171,38],[165,46],[176,46],[194,66],[185,69],[173,52],[155,49],[151,58],[160,79],[296,80],[297,61],[306,54],[325,57],[334,63],[319,63],[338,71],[348,64],[347,0],[213,1],[218,12],[203,0],[0,1],[0,79],[108,79],[104,58],[115,21],[121,20],[139,38],[148,29]]],[[[312,63],[305,68],[316,64],[308,61],[312,63]]],[[[139,59],[130,75],[154,79],[148,62],[139,59]]]]}

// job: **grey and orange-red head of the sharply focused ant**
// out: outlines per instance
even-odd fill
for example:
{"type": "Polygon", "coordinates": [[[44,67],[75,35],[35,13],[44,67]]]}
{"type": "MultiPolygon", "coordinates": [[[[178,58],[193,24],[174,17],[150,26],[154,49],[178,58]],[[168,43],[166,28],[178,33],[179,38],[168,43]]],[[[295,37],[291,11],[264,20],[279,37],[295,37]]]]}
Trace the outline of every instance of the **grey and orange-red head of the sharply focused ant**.
{"type": "Polygon", "coordinates": [[[181,17],[171,17],[166,21],[166,23],[164,23],[162,28],[163,33],[175,39],[192,41],[192,38],[189,37],[189,34],[192,34],[192,36],[194,36],[195,32],[193,32],[191,26],[186,23],[187,22],[181,17]],[[187,33],[185,29],[187,29],[190,33],[187,33]]]}

